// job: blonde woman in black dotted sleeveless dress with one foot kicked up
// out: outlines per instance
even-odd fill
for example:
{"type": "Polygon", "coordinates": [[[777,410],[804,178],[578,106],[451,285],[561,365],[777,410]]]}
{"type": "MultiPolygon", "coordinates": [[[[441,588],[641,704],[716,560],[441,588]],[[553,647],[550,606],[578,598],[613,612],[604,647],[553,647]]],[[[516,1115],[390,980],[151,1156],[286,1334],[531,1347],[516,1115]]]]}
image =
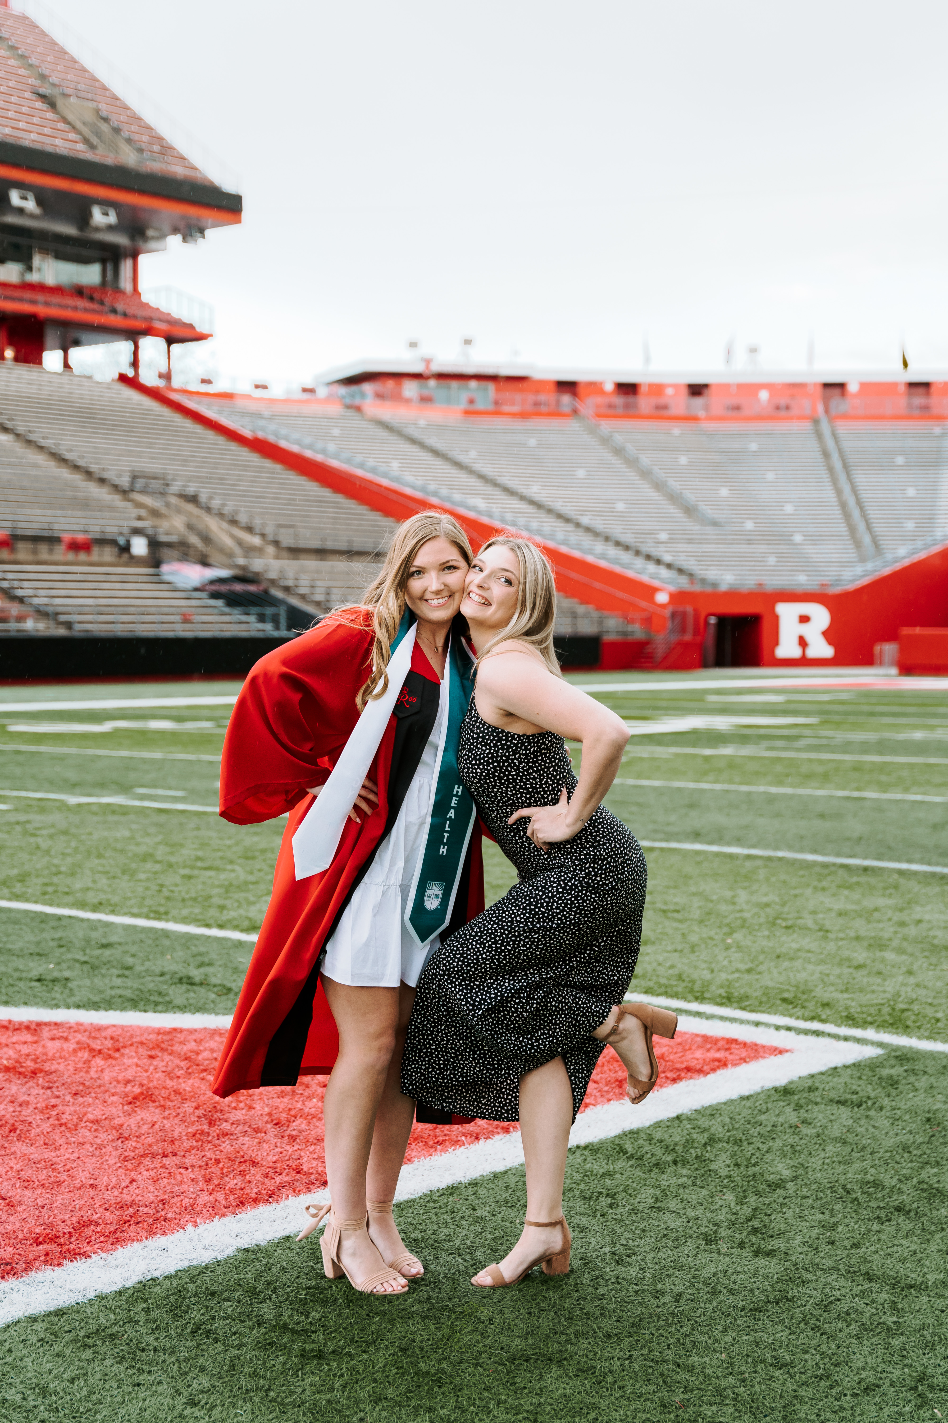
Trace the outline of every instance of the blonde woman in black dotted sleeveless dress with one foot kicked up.
{"type": "Polygon", "coordinates": [[[630,1101],[642,1101],[658,1077],[652,1032],[672,1037],[677,1019],[623,1003],[638,958],[645,858],[601,800],[628,730],[560,676],[546,558],[526,539],[492,539],[460,608],[479,660],[458,770],[519,881],[426,963],[402,1091],[442,1111],[520,1121],[523,1234],[472,1281],[499,1288],[539,1264],[569,1269],[566,1153],[593,1069],[608,1043],[628,1070],[630,1101]],[[583,744],[578,780],[564,736],[583,744]]]}

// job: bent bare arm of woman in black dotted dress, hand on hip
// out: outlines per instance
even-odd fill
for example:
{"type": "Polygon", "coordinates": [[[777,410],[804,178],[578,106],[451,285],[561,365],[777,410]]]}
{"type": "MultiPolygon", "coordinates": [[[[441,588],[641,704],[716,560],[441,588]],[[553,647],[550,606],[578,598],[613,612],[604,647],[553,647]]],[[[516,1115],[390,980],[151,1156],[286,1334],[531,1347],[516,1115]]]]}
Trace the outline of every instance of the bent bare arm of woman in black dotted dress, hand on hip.
{"type": "Polygon", "coordinates": [[[567,801],[564,788],[557,805],[524,807],[509,820],[513,824],[529,817],[527,834],[540,850],[571,840],[615,780],[628,741],[625,723],[586,692],[554,677],[539,657],[519,650],[485,659],[478,670],[478,704],[488,713],[499,713],[499,721],[527,721],[583,743],[580,783],[573,798],[567,801]]]}

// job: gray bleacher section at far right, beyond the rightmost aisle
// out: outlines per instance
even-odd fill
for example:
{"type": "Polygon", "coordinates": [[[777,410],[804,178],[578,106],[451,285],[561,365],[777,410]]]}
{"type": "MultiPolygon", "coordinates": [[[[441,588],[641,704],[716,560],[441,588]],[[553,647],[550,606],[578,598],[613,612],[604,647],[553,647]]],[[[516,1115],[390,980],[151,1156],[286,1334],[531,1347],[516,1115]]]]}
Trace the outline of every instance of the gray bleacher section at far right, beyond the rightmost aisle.
{"type": "Polygon", "coordinates": [[[837,420],[836,438],[890,555],[948,527],[948,433],[930,421],[837,420]]]}

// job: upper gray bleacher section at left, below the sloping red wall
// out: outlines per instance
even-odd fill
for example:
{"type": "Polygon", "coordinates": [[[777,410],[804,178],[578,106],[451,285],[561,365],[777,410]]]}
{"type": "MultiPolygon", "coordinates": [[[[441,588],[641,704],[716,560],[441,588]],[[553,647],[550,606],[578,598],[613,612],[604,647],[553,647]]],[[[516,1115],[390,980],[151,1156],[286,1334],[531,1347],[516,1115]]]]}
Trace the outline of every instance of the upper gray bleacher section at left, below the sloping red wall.
{"type": "Polygon", "coordinates": [[[142,475],[166,480],[287,549],[371,554],[394,527],[118,383],[0,361],[0,421],[119,490],[142,475]]]}

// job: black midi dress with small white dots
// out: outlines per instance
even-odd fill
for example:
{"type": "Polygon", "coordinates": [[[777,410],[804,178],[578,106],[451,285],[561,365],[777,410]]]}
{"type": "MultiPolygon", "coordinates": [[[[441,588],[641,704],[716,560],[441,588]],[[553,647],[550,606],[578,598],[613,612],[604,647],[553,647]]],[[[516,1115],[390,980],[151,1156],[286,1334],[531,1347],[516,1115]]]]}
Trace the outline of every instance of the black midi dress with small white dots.
{"type": "Polygon", "coordinates": [[[519,872],[517,884],[425,965],[402,1059],[402,1091],[441,1111],[517,1121],[520,1077],[563,1057],[580,1110],[604,1044],[593,1037],[635,969],[645,857],[600,805],[578,835],[544,854],[526,805],[554,805],[576,776],[563,739],[485,721],[470,700],[460,778],[519,872]]]}

